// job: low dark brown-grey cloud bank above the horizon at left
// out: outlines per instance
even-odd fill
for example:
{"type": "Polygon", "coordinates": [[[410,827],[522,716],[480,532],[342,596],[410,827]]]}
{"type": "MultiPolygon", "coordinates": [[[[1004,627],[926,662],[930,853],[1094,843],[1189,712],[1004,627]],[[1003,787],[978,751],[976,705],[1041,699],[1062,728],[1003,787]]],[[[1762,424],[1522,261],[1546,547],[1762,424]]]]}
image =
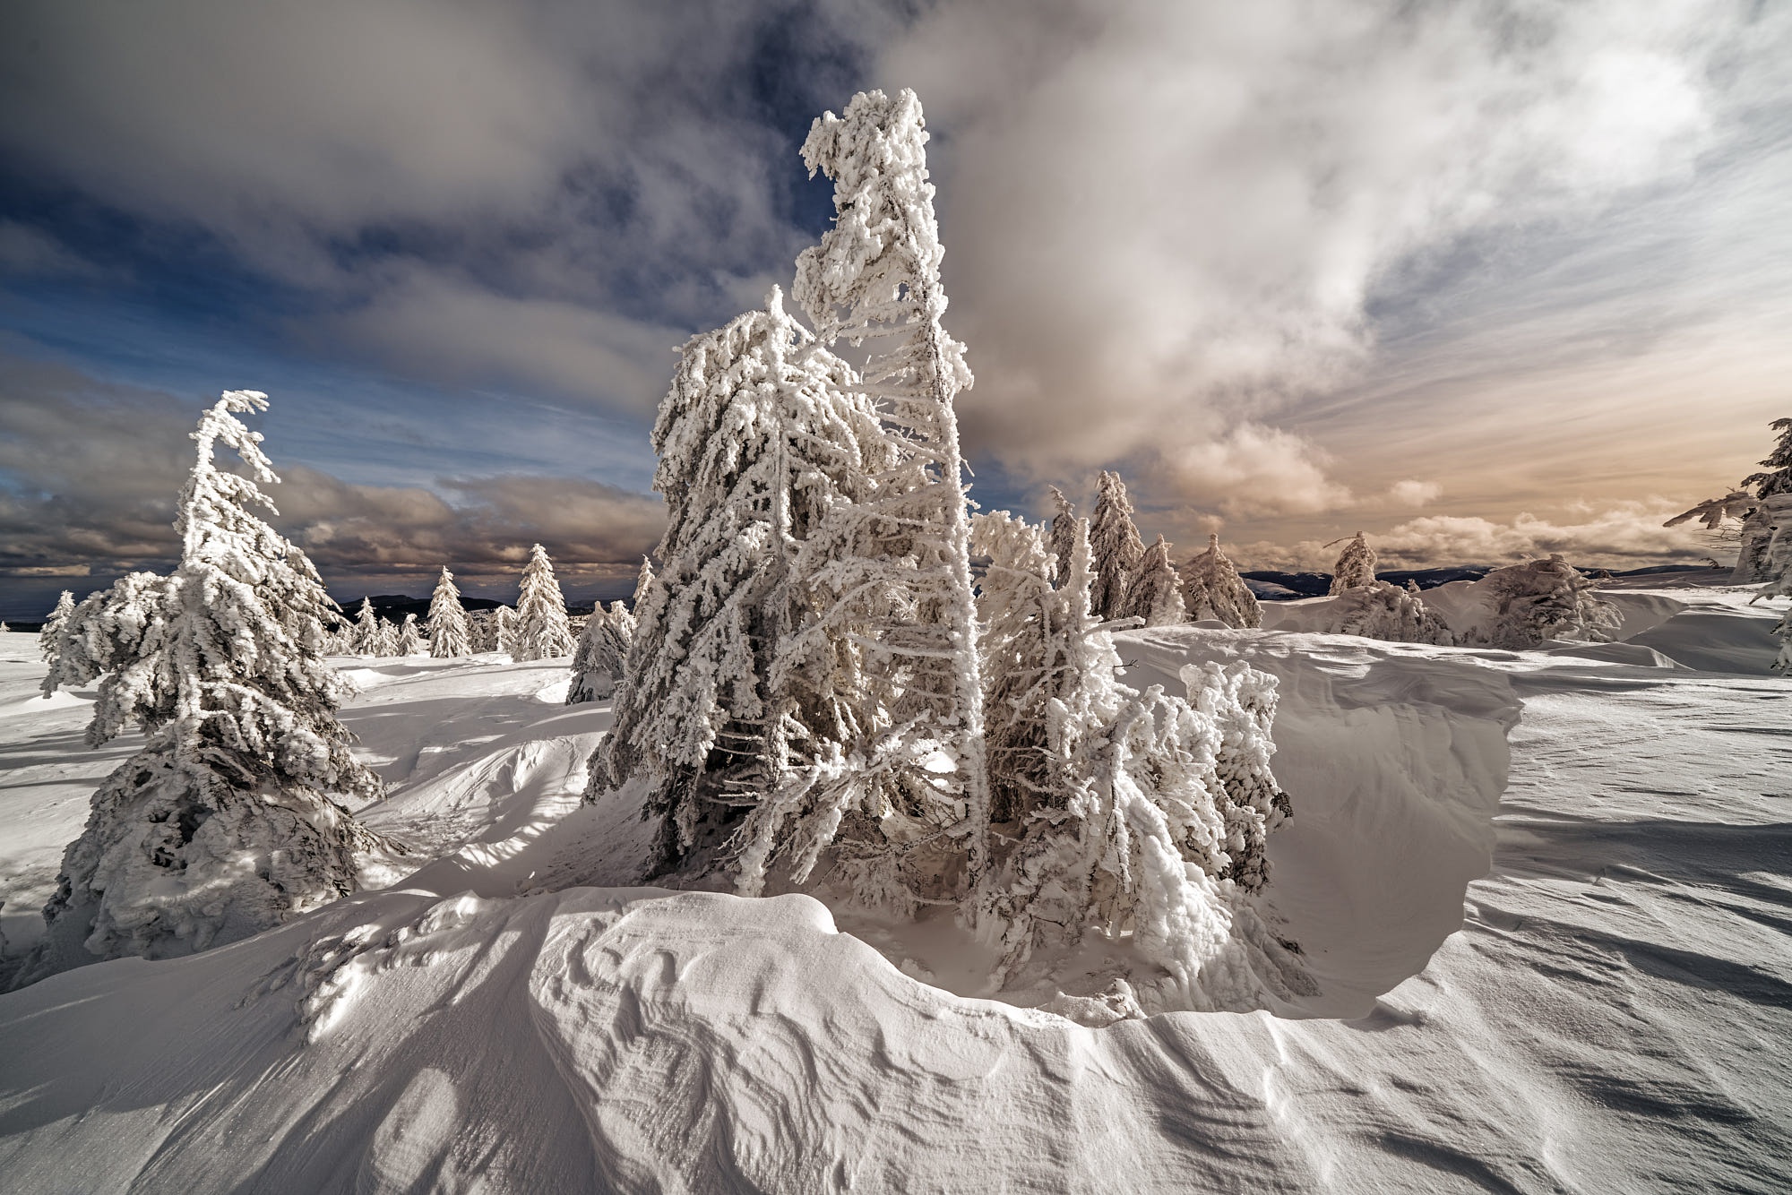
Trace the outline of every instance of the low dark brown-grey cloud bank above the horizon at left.
{"type": "MultiPolygon", "coordinates": [[[[0,575],[170,568],[201,405],[5,355],[0,396],[0,575]]],[[[421,591],[443,564],[475,582],[496,580],[521,568],[532,543],[568,579],[633,577],[665,523],[658,496],[590,478],[357,486],[281,464],[280,444],[267,448],[281,484],[265,487],[278,507],[265,518],[326,580],[396,577],[421,591]]]]}

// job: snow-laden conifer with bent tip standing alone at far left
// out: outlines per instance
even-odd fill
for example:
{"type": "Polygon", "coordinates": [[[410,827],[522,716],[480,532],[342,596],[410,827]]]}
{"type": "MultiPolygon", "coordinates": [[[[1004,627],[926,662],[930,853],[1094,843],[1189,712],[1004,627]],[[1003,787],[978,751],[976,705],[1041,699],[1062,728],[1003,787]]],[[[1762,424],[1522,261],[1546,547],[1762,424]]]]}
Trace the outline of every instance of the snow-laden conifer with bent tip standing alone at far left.
{"type": "Polygon", "coordinates": [[[263,394],[231,391],[199,421],[176,573],[120,582],[95,625],[65,634],[113,636],[88,744],[129,722],[147,742],[93,794],[27,980],[247,937],[353,892],[357,851],[382,846],[337,801],[382,785],[335,717],[349,690],[319,654],[330,598],[251,512],[272,509],[258,484],[278,478],[237,414],[265,408],[263,394]],[[247,477],[217,468],[219,443],[247,477]]]}

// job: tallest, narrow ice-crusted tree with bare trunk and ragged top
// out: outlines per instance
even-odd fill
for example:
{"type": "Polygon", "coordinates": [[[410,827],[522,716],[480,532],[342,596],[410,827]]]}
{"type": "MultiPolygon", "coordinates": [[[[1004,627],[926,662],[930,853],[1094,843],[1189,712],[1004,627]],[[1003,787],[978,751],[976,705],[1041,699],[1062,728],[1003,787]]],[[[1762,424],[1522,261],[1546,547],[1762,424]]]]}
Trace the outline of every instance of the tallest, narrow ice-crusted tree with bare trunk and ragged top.
{"type": "MultiPolygon", "coordinates": [[[[805,822],[815,844],[842,838],[837,865],[860,894],[901,903],[916,885],[955,887],[923,844],[968,835],[964,885],[987,858],[984,758],[969,512],[953,400],[971,383],[964,346],[943,324],[944,249],[926,172],[926,127],[914,91],[862,91],[844,116],[823,115],[803,143],[812,172],[833,179],[835,224],[797,258],[796,297],[821,342],[866,344],[862,391],[889,455],[876,491],[840,507],[803,548],[815,623],[794,650],[810,668],[835,658],[826,684],[849,745],[801,765],[805,822]],[[876,683],[864,683],[876,677],[876,683]],[[837,677],[839,679],[839,677],[837,677]]],[[[812,674],[814,675],[814,674],[812,674]]],[[[796,792],[796,790],[790,790],[796,792]]],[[[778,808],[785,808],[780,799],[778,808]]]]}

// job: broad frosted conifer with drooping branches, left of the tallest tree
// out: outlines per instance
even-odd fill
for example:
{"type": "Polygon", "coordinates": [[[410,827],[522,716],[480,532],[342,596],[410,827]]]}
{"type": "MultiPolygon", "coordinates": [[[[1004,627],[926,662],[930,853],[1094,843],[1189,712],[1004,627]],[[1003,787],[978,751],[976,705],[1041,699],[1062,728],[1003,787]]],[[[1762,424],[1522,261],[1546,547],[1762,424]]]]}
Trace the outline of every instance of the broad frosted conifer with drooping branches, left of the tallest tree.
{"type": "Polygon", "coordinates": [[[751,883],[751,844],[769,853],[783,828],[776,794],[817,738],[842,738],[826,684],[853,649],[839,634],[794,647],[812,615],[796,557],[833,511],[873,494],[862,444],[883,428],[855,382],[774,287],[765,310],[685,346],[659,407],[661,568],[642,563],[616,727],[591,769],[593,794],[647,776],[658,867],[704,826],[713,842],[763,810],[744,831],[751,883]]]}

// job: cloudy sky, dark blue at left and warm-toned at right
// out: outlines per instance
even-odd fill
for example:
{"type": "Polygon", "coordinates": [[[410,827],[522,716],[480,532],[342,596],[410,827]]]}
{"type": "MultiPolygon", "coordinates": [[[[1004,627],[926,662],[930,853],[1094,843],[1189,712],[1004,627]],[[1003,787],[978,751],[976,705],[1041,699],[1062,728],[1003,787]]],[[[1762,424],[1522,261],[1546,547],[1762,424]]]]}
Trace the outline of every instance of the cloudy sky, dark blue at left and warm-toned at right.
{"type": "Polygon", "coordinates": [[[1693,563],[1792,416],[1792,5],[16,0],[0,616],[167,568],[226,389],[332,593],[618,597],[676,351],[914,88],[986,509],[1245,568],[1693,563]]]}

